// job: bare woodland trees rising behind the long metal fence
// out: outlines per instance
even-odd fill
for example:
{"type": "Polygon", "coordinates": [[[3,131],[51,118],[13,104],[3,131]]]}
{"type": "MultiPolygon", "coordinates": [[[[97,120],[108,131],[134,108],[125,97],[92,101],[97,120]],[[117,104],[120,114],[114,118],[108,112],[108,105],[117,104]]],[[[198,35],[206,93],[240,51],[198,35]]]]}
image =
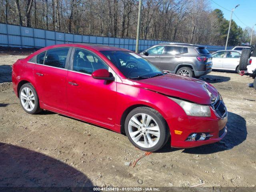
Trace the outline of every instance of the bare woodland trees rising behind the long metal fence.
{"type": "MultiPolygon", "coordinates": [[[[0,0],[0,22],[58,32],[136,38],[138,0],[0,0]]],[[[209,0],[143,0],[141,39],[224,45],[229,21],[209,0]]],[[[229,46],[250,42],[232,20],[229,46]]],[[[256,42],[255,33],[253,42],[256,42]]]]}

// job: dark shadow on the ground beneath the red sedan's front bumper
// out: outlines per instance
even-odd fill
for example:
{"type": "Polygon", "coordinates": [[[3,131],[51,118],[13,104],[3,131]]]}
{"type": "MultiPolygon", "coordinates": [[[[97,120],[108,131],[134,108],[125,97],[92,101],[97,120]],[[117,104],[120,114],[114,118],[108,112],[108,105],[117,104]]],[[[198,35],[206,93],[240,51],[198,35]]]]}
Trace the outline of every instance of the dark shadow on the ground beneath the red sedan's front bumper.
{"type": "Polygon", "coordinates": [[[166,146],[164,146],[164,148],[162,148],[162,150],[159,150],[158,152],[183,150],[183,153],[188,154],[212,154],[220,151],[230,150],[246,140],[246,120],[242,116],[228,112],[227,127],[228,133],[220,142],[187,149],[171,148],[169,142],[166,144],[166,146]]]}

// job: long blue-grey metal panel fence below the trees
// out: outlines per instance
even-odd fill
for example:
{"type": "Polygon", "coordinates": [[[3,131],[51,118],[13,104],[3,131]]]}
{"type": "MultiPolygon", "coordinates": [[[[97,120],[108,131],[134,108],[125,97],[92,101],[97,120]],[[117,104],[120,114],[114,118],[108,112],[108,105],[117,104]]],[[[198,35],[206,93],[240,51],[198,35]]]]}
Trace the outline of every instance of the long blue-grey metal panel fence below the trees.
{"type": "MultiPolygon", "coordinates": [[[[167,41],[139,40],[139,50],[146,50],[153,45],[164,42],[167,41]]],[[[103,44],[134,51],[136,39],[70,34],[0,23],[0,46],[42,48],[55,44],[67,43],[103,44]]],[[[224,49],[224,46],[203,46],[205,46],[209,51],[224,49]]]]}

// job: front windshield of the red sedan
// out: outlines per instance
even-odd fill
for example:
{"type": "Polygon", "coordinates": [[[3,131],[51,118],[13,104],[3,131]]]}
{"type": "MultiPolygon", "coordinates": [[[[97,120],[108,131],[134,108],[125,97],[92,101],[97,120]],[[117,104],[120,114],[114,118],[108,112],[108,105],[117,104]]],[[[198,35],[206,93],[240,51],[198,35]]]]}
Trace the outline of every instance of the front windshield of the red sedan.
{"type": "Polygon", "coordinates": [[[101,51],[127,78],[151,78],[164,74],[148,60],[127,51],[101,51]]]}

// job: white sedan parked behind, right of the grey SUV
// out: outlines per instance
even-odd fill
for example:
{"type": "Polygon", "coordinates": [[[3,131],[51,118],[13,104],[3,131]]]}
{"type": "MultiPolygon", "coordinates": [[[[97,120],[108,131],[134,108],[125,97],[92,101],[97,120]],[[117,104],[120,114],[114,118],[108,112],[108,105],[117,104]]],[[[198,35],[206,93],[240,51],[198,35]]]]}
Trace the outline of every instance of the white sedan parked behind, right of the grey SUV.
{"type": "Polygon", "coordinates": [[[240,73],[240,50],[221,50],[212,53],[212,69],[232,70],[240,73]]]}

